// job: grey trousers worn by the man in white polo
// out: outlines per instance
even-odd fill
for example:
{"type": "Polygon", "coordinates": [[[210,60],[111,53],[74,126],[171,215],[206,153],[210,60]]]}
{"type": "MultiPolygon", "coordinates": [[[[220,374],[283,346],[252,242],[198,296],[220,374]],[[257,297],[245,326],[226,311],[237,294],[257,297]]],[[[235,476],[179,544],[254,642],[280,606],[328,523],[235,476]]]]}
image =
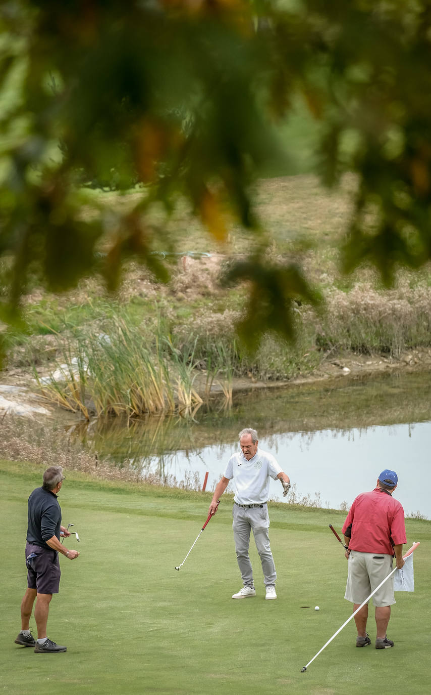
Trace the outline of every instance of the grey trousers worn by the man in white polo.
{"type": "Polygon", "coordinates": [[[254,587],[253,568],[249,558],[250,531],[253,530],[254,542],[261,557],[265,587],[275,586],[277,578],[274,559],[271,553],[267,504],[263,507],[245,509],[234,504],[232,509],[236,559],[245,587],[254,587]]]}

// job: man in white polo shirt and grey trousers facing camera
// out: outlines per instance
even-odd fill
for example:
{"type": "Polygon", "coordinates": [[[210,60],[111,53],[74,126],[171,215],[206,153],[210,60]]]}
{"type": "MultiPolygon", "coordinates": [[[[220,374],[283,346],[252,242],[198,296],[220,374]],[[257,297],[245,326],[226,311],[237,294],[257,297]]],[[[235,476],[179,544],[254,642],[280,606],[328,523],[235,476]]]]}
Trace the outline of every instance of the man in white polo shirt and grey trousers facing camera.
{"type": "Polygon", "coordinates": [[[250,531],[253,530],[254,542],[261,557],[263,578],[266,587],[267,600],[276,598],[276,571],[271,553],[270,517],[268,516],[267,499],[270,490],[270,477],[277,478],[283,485],[283,497],[290,488],[289,476],[283,473],[274,457],[258,448],[256,430],[247,427],[240,434],[241,451],[229,459],[225,474],[215,487],[209,513],[215,514],[217,502],[225,492],[229,480],[234,480],[235,495],[232,516],[234,523],[236,559],[243,578],[243,588],[232,598],[248,598],[256,596],[253,581],[252,563],[249,558],[250,531]]]}

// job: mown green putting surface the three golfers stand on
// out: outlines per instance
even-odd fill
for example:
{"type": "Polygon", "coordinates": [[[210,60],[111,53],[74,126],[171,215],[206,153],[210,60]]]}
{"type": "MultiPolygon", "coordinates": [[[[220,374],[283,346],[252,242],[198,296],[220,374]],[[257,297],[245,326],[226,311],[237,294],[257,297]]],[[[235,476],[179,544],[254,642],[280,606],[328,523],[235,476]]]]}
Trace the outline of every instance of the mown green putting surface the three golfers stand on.
{"type": "MultiPolygon", "coordinates": [[[[328,523],[341,530],[342,512],[272,505],[278,599],[264,600],[252,544],[257,596],[233,601],[241,582],[229,498],[222,498],[176,572],[202,528],[211,494],[115,486],[67,471],[63,521],[75,524],[81,541],[68,546],[81,555],[60,561],[49,637],[68,651],[36,655],[20,648],[13,640],[26,587],[26,500],[41,474],[37,466],[0,461],[1,692],[429,692],[430,522],[407,521],[408,547],[412,541],[421,546],[414,594],[396,594],[389,630],[395,648],[356,649],[352,621],[301,673],[351,612],[343,598],[346,560],[328,530],[328,523]]],[[[34,630],[34,619],[30,624],[34,630]]],[[[374,639],[373,619],[369,632],[374,639]]]]}

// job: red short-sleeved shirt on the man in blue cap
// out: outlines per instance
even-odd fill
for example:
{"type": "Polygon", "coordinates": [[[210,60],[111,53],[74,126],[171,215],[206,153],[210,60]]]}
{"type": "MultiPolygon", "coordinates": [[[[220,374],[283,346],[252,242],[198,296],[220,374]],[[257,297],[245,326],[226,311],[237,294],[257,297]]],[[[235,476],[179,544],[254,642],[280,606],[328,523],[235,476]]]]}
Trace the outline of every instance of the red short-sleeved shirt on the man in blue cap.
{"type": "Polygon", "coordinates": [[[346,536],[349,536],[349,526],[349,548],[360,553],[394,555],[391,539],[395,546],[407,543],[401,503],[378,487],[353,500],[342,530],[346,536]]]}

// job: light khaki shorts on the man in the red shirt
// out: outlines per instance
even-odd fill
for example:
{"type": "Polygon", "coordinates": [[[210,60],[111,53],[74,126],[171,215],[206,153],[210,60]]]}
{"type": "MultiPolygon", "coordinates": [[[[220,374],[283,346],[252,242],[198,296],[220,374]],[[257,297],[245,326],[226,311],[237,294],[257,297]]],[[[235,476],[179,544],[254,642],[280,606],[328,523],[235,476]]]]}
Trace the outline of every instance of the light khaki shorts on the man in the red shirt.
{"type": "MultiPolygon", "coordinates": [[[[358,553],[358,550],[351,550],[344,598],[360,605],[391,571],[392,555],[358,553]]],[[[392,575],[374,594],[373,604],[382,607],[394,603],[394,575],[392,575]]]]}

